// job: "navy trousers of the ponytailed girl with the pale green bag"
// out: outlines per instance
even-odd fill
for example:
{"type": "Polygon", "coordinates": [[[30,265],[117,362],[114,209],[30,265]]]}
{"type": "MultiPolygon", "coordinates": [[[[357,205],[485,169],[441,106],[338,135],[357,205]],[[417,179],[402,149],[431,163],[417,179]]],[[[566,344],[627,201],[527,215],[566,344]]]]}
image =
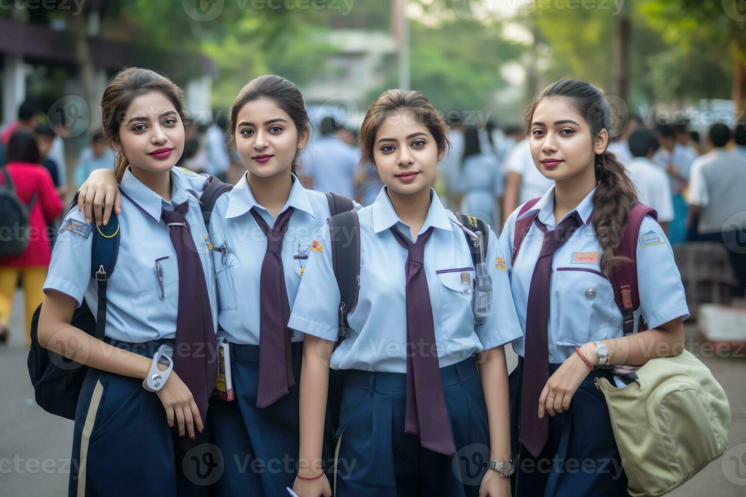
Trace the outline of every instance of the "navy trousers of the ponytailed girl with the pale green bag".
{"type": "MultiPolygon", "coordinates": [[[[609,370],[590,371],[575,392],[568,411],[549,418],[549,440],[539,458],[518,442],[523,358],[510,373],[510,440],[515,456],[513,497],[629,496],[627,475],[614,440],[609,409],[594,378],[609,370]]],[[[550,364],[550,375],[560,364],[550,364]]],[[[548,416],[548,414],[545,414],[548,416]]]]}

